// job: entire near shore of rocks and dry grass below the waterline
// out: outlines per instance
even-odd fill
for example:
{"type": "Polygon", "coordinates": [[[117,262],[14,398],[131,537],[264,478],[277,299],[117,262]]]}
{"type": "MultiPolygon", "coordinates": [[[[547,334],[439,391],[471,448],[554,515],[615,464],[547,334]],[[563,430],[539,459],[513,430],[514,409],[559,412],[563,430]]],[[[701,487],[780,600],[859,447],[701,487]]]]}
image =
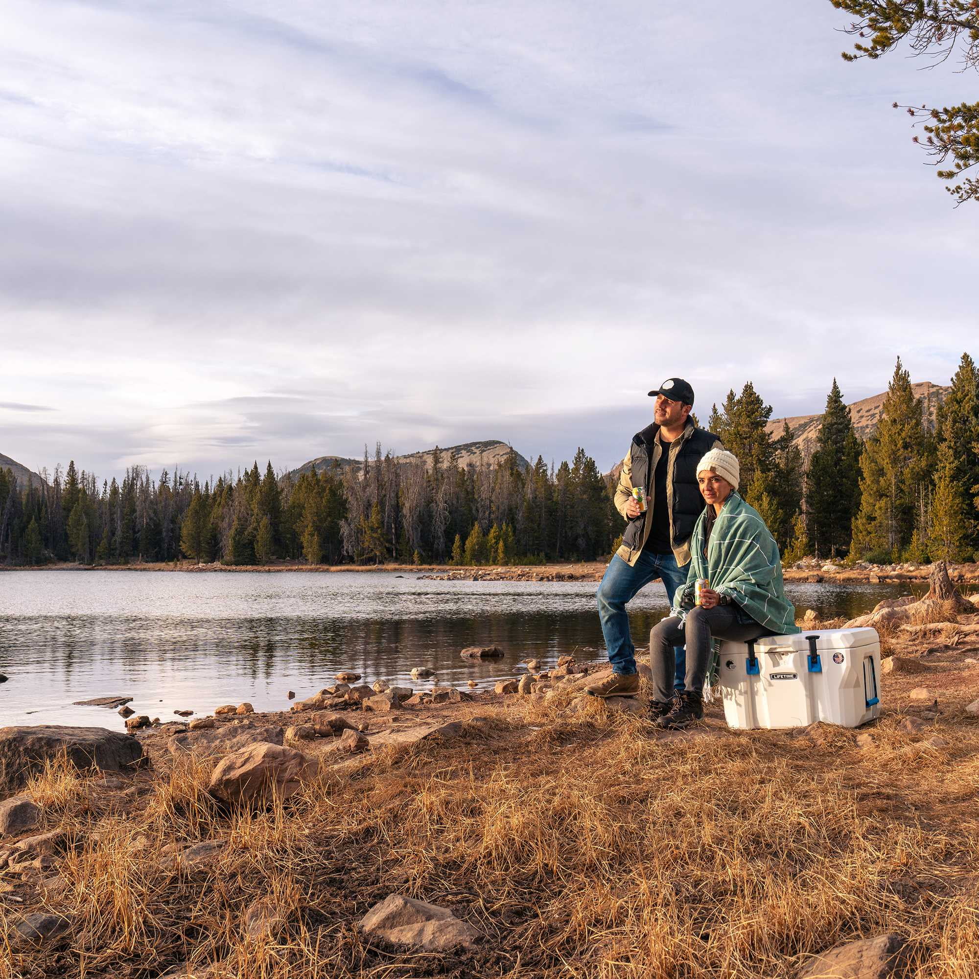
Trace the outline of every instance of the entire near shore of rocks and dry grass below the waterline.
{"type": "Polygon", "coordinates": [[[660,731],[570,656],[491,689],[343,671],[277,712],[0,729],[7,974],[965,976],[979,611],[926,605],[870,613],[889,655],[859,730],[731,731],[714,703],[660,731]],[[767,894],[791,928],[754,930],[767,894]]]}

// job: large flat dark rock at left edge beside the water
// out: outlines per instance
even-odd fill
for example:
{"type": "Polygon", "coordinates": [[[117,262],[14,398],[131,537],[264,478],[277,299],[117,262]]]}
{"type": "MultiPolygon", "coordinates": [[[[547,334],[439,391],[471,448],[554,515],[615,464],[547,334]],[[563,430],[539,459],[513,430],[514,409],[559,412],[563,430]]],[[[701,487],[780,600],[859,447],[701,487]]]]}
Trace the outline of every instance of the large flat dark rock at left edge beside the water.
{"type": "Polygon", "coordinates": [[[63,754],[79,769],[118,771],[139,764],[143,746],[129,734],[104,727],[0,727],[0,793],[15,792],[28,774],[63,754]]]}

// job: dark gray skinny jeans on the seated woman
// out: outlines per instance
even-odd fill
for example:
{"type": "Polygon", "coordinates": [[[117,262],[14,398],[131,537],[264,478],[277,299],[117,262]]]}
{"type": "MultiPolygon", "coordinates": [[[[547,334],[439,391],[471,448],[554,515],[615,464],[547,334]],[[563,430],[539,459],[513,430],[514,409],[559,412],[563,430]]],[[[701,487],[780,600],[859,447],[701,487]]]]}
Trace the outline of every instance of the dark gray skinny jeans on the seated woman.
{"type": "Polygon", "coordinates": [[[685,626],[676,616],[664,619],[649,633],[653,696],[661,704],[673,697],[676,672],[674,646],[686,645],[686,678],[683,685],[690,693],[701,693],[714,652],[712,639],[747,642],[763,635],[774,633],[750,619],[736,605],[717,605],[713,609],[698,605],[687,613],[685,626]],[[745,620],[748,620],[747,623],[745,620]]]}

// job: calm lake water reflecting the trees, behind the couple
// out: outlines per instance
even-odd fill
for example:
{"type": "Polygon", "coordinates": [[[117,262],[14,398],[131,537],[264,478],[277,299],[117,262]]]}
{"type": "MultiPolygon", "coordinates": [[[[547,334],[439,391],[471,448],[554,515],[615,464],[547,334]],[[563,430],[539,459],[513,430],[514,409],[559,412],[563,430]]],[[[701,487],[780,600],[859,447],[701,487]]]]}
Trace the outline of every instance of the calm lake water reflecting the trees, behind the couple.
{"type": "MultiPolygon", "coordinates": [[[[131,696],[137,713],[176,720],[251,702],[284,710],[351,669],[415,688],[412,667],[481,687],[516,665],[559,655],[604,658],[596,582],[433,582],[394,572],[0,572],[0,726],[99,724],[115,711],[72,701],[131,696]],[[464,646],[496,644],[503,660],[467,663],[464,646]]],[[[852,618],[895,584],[789,584],[798,609],[852,618]]],[[[630,603],[636,645],[666,613],[663,585],[630,603]]]]}

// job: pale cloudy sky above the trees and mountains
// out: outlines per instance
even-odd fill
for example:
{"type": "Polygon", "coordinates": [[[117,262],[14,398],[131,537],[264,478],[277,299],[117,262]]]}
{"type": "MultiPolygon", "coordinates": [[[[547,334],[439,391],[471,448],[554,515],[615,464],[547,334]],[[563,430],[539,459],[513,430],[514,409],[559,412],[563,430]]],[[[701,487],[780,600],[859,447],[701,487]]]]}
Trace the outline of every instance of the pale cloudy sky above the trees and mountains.
{"type": "Polygon", "coordinates": [[[5,0],[0,452],[204,475],[501,439],[607,469],[686,377],[948,383],[956,210],[828,0],[5,0]]]}

